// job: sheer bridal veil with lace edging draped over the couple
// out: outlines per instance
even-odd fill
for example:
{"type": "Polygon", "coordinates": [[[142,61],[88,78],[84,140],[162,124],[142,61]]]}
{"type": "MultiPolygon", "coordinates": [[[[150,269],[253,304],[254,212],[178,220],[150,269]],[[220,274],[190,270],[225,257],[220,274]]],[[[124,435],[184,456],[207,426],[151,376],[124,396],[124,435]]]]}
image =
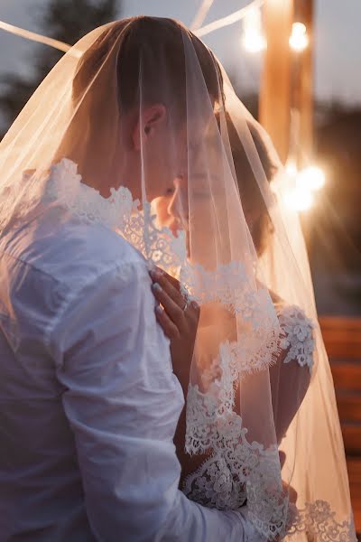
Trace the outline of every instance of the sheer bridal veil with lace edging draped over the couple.
{"type": "Polygon", "coordinates": [[[190,499],[246,505],[269,539],[354,540],[289,181],[211,51],[171,19],[96,29],[23,108],[0,164],[3,232],[61,206],[115,229],[200,304],[180,453],[190,499]]]}

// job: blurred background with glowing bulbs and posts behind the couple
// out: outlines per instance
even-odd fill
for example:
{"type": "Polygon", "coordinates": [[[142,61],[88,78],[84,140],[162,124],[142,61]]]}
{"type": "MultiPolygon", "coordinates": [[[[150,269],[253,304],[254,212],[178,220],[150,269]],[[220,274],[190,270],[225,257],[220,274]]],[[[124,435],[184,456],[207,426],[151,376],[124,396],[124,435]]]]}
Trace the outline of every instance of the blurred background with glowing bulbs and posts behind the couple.
{"type": "Polygon", "coordinates": [[[63,54],[4,23],[73,44],[136,14],[199,33],[294,176],[361,531],[361,2],[0,0],[0,137],[63,54]]]}

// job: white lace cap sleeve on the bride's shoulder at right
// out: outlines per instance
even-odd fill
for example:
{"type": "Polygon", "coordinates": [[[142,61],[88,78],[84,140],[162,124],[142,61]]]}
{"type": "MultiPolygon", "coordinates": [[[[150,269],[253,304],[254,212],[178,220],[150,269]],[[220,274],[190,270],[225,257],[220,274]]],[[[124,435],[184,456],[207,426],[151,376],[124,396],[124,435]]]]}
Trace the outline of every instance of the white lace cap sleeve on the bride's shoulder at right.
{"type": "Polygon", "coordinates": [[[280,349],[287,350],[283,363],[295,360],[301,367],[313,367],[315,323],[296,305],[277,309],[281,327],[280,349]]]}

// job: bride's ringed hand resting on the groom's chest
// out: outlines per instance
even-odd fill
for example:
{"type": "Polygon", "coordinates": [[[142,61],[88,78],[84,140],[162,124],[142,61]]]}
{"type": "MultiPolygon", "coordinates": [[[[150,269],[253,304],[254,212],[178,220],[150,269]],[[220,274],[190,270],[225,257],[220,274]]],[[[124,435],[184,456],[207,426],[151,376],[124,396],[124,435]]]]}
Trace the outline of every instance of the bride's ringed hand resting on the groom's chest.
{"type": "Polygon", "coordinates": [[[157,267],[150,275],[153,280],[153,294],[159,303],[155,314],[164,333],[171,340],[173,371],[186,395],[199,322],[199,305],[194,301],[187,304],[180,291],[180,282],[165,271],[157,267]]]}

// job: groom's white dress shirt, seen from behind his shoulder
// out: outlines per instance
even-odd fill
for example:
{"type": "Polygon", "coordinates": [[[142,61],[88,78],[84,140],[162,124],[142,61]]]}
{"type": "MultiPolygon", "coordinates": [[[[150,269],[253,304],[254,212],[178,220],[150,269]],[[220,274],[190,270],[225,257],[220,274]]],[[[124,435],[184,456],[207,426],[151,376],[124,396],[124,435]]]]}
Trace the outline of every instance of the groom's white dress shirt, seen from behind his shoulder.
{"type": "Polygon", "coordinates": [[[0,539],[259,540],[179,491],[183,396],[143,257],[59,207],[0,238],[0,539]]]}

